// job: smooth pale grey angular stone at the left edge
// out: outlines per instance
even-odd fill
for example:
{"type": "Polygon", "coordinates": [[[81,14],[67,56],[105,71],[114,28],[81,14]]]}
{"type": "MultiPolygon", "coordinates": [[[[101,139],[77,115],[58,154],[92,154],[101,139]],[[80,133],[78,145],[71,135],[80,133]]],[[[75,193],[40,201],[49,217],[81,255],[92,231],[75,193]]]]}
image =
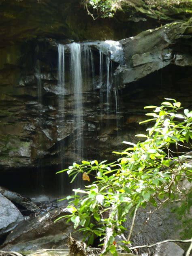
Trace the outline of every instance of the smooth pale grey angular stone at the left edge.
{"type": "Polygon", "coordinates": [[[0,194],[0,235],[13,230],[22,220],[23,215],[15,205],[0,194]]]}

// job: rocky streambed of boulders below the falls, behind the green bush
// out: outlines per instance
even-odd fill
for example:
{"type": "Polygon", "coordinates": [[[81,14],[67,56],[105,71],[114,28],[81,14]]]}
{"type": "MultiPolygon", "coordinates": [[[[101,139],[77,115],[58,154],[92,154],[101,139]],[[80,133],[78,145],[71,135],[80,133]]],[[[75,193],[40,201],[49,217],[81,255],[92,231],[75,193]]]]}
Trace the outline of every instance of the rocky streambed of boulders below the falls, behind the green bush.
{"type": "MultiPolygon", "coordinates": [[[[141,209],[137,214],[136,225],[131,239],[132,245],[150,245],[165,239],[182,240],[182,234],[190,232],[190,226],[186,227],[184,225],[186,220],[190,222],[190,215],[189,212],[186,212],[182,217],[178,215],[177,211],[173,211],[178,206],[183,207],[182,203],[179,205],[166,205],[151,217],[146,209],[141,209]],[[181,218],[179,224],[178,218],[181,218]]],[[[100,249],[87,247],[86,243],[82,242],[81,233],[73,233],[73,224],[66,223],[65,218],[54,222],[57,218],[66,214],[68,214],[68,210],[64,203],[61,205],[53,201],[36,204],[29,198],[1,187],[0,255],[75,256],[100,254],[100,249]],[[82,254],[78,254],[78,250],[82,254]]],[[[130,221],[128,220],[124,225],[129,229],[130,221]]],[[[179,243],[179,246],[173,242],[162,243],[147,251],[145,251],[145,248],[138,249],[139,251],[133,251],[133,254],[140,253],[141,256],[183,256],[188,244],[179,243]]],[[[119,255],[132,254],[119,252],[119,255]]]]}

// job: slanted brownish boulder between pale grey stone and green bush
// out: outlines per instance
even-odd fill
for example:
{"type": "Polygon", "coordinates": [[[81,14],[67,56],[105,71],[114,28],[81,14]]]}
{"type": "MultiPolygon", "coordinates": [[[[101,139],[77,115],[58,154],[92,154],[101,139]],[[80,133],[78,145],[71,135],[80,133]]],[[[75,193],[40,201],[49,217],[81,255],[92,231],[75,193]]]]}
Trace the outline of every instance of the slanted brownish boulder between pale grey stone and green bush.
{"type": "MultiPolygon", "coordinates": [[[[54,223],[54,220],[67,214],[67,209],[59,207],[37,217],[23,220],[6,237],[2,245],[4,251],[27,251],[53,247],[66,248],[73,225],[66,223],[65,218],[54,223]]],[[[79,238],[78,234],[78,239],[79,238]]]]}

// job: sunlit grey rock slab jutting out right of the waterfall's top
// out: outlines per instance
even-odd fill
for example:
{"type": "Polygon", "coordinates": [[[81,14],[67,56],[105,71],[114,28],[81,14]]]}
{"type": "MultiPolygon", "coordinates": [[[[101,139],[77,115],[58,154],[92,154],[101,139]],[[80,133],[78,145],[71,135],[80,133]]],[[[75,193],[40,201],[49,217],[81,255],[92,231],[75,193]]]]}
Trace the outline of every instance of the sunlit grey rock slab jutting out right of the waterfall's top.
{"type": "Polygon", "coordinates": [[[192,19],[173,22],[119,41],[126,66],[119,68],[117,81],[128,84],[170,64],[192,66],[191,26],[192,19]]]}

